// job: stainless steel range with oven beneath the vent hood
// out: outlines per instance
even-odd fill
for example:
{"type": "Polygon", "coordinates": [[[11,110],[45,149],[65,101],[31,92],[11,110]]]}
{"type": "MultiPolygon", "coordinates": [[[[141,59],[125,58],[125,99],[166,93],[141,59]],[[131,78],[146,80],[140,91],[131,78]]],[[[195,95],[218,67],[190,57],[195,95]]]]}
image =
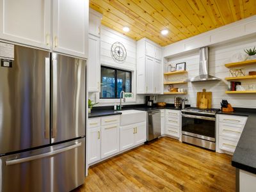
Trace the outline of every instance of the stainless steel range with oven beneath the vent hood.
{"type": "Polygon", "coordinates": [[[217,111],[220,109],[182,109],[182,141],[215,150],[217,111]]]}

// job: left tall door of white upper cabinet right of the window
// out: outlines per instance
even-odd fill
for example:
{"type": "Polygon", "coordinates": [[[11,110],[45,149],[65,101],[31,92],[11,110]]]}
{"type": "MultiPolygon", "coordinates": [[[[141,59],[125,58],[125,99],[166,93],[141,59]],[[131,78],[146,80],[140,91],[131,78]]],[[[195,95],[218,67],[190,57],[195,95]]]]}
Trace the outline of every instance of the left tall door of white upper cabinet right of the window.
{"type": "Polygon", "coordinates": [[[154,60],[146,58],[146,93],[154,93],[154,60]]]}

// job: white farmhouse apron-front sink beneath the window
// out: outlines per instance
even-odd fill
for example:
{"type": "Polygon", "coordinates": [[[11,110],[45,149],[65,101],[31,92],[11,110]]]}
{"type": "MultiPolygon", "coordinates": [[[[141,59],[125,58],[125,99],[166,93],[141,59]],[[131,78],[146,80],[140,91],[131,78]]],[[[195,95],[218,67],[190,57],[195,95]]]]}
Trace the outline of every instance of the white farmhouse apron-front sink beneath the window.
{"type": "Polygon", "coordinates": [[[147,121],[147,112],[145,111],[139,111],[139,110],[125,110],[121,111],[121,122],[120,125],[131,125],[131,124],[137,124],[140,122],[147,121]]]}

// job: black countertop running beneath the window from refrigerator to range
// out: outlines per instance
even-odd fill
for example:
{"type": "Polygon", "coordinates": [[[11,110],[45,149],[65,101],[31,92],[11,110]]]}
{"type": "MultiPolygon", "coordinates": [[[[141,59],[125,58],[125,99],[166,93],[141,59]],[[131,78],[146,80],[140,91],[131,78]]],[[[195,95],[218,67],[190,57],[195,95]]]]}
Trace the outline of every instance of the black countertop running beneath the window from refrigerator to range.
{"type": "MultiPolygon", "coordinates": [[[[186,107],[189,107],[189,105],[186,105],[186,107]]],[[[174,104],[166,104],[165,107],[157,107],[157,106],[148,107],[145,104],[134,104],[134,105],[122,106],[122,110],[129,110],[129,109],[135,109],[140,111],[153,111],[153,110],[159,110],[159,109],[180,110],[180,108],[175,108],[174,104]]],[[[122,111],[114,111],[113,106],[95,107],[92,109],[92,112],[89,113],[88,118],[110,116],[110,115],[122,115],[122,111]]]]}

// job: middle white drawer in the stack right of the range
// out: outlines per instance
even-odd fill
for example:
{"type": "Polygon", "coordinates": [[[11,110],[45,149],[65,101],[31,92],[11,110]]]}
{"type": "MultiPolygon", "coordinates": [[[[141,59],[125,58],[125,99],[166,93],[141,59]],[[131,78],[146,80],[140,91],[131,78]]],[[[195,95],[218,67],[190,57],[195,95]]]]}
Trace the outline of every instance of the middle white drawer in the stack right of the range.
{"type": "Polygon", "coordinates": [[[244,125],[239,124],[228,124],[228,123],[219,123],[219,134],[221,136],[228,136],[232,138],[239,139],[241,136],[241,133],[244,129],[244,125]]]}

